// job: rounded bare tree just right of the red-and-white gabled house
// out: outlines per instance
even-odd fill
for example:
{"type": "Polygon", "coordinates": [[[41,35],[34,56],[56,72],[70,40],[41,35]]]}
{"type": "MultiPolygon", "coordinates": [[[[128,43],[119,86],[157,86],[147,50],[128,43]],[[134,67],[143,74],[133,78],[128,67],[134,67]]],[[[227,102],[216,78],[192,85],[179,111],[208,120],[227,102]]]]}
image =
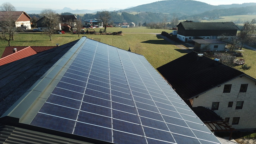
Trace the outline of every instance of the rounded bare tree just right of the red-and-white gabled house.
{"type": "Polygon", "coordinates": [[[44,27],[46,27],[46,30],[44,30],[43,33],[49,36],[50,40],[52,40],[52,34],[54,34],[56,30],[60,30],[60,17],[52,9],[44,9],[40,14],[43,16],[42,23],[44,27]]]}

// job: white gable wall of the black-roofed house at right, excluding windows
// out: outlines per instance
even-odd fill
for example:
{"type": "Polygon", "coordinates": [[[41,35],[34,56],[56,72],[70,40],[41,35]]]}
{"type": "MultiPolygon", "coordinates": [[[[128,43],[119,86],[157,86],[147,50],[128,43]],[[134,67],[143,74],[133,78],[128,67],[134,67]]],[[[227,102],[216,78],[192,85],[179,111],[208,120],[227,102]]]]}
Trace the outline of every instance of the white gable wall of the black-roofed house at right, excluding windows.
{"type": "Polygon", "coordinates": [[[232,125],[233,117],[240,117],[238,125],[232,125],[235,129],[256,128],[256,83],[245,76],[238,77],[226,84],[232,84],[230,93],[223,93],[224,84],[216,87],[198,98],[193,99],[193,107],[204,106],[209,109],[212,102],[219,102],[218,110],[214,110],[223,119],[229,117],[229,124],[232,125]],[[239,92],[241,84],[248,84],[247,92],[239,92]],[[236,102],[243,101],[243,108],[236,110],[236,102]],[[228,107],[233,102],[232,107],[228,107]]]}

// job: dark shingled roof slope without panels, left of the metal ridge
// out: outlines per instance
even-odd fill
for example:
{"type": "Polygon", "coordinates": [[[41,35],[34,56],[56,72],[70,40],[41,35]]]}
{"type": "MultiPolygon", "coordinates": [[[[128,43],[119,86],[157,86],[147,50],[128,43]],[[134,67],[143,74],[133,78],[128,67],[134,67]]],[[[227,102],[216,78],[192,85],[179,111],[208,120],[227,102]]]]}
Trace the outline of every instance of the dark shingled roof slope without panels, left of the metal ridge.
{"type": "Polygon", "coordinates": [[[0,116],[77,41],[0,66],[0,116]]]}

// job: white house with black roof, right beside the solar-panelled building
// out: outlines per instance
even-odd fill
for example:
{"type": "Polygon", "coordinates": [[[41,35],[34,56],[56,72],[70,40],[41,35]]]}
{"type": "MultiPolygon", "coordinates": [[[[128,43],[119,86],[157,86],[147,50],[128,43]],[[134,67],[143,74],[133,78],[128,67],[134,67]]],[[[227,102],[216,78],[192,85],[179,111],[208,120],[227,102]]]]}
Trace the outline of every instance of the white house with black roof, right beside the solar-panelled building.
{"type": "Polygon", "coordinates": [[[157,70],[192,109],[206,107],[235,129],[256,129],[255,78],[196,52],[157,70]]]}

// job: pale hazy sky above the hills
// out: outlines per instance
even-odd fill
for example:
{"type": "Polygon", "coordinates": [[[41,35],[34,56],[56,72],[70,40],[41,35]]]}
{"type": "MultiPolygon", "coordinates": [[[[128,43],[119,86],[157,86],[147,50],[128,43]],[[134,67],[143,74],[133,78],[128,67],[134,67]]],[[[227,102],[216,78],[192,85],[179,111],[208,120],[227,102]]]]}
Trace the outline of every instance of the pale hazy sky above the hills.
{"type": "MultiPolygon", "coordinates": [[[[30,7],[40,9],[63,9],[69,7],[75,9],[125,9],[127,7],[149,4],[159,0],[1,0],[0,5],[4,2],[10,2],[14,7],[30,7]]],[[[205,2],[210,5],[228,5],[256,2],[256,0],[196,0],[205,2]]],[[[173,6],[171,8],[174,8],[173,6]]],[[[33,9],[34,10],[34,9],[33,9]]]]}

